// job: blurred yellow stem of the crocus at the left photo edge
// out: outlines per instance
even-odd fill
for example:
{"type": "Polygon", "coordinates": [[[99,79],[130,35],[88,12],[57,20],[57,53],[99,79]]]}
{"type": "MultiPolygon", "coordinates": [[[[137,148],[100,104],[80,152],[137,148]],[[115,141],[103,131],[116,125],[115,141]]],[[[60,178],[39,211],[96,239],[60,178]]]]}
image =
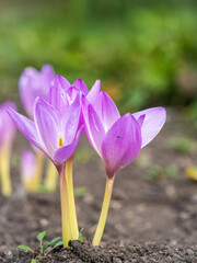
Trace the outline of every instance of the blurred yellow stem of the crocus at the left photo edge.
{"type": "Polygon", "coordinates": [[[2,150],[0,155],[0,178],[2,195],[10,196],[12,194],[10,179],[10,149],[2,150]]]}

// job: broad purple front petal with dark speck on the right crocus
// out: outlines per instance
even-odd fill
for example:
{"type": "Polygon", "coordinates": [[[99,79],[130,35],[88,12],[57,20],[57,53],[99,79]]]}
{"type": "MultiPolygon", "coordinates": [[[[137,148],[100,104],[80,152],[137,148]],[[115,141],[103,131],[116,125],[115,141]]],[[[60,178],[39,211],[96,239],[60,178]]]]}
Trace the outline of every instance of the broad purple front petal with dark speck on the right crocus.
{"type": "Polygon", "coordinates": [[[109,178],[134,161],[141,148],[141,130],[131,114],[120,117],[108,130],[102,144],[102,157],[109,178]]]}

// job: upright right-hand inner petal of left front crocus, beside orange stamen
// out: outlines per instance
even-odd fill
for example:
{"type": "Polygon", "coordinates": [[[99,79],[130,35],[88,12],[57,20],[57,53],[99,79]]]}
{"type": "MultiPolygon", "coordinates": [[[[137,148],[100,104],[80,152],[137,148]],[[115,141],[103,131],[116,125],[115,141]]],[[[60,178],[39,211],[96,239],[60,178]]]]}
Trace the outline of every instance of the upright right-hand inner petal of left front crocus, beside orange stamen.
{"type": "Polygon", "coordinates": [[[69,145],[76,137],[81,116],[81,92],[78,93],[74,102],[67,107],[61,116],[61,134],[63,145],[69,145]]]}

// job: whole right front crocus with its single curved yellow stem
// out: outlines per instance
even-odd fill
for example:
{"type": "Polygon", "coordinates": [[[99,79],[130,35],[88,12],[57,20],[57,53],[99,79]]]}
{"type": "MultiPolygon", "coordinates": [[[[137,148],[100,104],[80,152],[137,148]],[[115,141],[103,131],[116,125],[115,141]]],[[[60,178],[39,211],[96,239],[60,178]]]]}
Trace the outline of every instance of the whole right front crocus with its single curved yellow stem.
{"type": "Polygon", "coordinates": [[[107,173],[104,205],[93,240],[93,244],[97,245],[105,226],[115,173],[134,161],[141,147],[157,136],[166,114],[163,107],[154,107],[120,116],[105,92],[99,94],[94,106],[88,104],[84,108],[88,138],[103,159],[107,173]]]}

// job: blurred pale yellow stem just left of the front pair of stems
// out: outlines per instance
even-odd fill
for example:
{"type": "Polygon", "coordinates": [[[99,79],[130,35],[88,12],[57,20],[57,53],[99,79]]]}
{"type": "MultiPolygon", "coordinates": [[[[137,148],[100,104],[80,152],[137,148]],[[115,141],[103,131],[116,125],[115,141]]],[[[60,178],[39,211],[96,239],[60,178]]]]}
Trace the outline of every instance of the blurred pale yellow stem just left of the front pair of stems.
{"type": "Polygon", "coordinates": [[[51,161],[47,162],[45,187],[49,192],[55,192],[57,186],[57,170],[51,161]]]}

